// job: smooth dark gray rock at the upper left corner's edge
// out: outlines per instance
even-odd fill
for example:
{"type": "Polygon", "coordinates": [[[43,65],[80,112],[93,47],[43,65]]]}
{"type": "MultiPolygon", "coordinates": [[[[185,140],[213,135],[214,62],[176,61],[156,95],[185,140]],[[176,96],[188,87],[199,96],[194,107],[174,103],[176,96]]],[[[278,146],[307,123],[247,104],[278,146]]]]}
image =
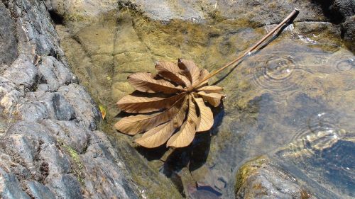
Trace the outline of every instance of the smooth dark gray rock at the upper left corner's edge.
{"type": "Polygon", "coordinates": [[[15,23],[9,11],[0,2],[0,65],[11,64],[17,57],[17,43],[15,35],[15,23]]]}

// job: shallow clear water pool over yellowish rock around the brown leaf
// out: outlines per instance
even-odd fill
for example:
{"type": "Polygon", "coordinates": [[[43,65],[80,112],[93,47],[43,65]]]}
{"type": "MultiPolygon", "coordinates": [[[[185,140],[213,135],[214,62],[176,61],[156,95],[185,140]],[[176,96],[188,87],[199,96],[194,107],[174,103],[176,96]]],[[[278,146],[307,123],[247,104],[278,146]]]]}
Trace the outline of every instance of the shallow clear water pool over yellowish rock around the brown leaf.
{"type": "MultiPolygon", "coordinates": [[[[126,76],[153,72],[155,61],[179,57],[211,71],[273,27],[222,19],[160,23],[130,11],[107,13],[81,26],[58,26],[62,47],[82,84],[107,107],[105,130],[129,142],[131,137],[111,129],[118,120],[115,102],[133,91],[126,76]]],[[[354,197],[355,57],[332,32],[324,23],[290,25],[209,81],[226,93],[224,105],[214,109],[210,132],[165,162],[160,161],[164,147],[138,147],[138,152],[192,198],[234,198],[236,171],[263,154],[320,198],[354,197]]]]}

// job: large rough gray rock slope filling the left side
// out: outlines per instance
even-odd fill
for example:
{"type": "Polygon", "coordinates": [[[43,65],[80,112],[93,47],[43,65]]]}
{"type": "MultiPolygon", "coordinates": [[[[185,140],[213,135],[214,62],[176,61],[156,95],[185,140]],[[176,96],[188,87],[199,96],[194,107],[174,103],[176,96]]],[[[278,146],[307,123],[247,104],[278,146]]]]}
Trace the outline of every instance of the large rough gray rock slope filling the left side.
{"type": "Polygon", "coordinates": [[[138,198],[43,1],[0,1],[0,198],[138,198]]]}

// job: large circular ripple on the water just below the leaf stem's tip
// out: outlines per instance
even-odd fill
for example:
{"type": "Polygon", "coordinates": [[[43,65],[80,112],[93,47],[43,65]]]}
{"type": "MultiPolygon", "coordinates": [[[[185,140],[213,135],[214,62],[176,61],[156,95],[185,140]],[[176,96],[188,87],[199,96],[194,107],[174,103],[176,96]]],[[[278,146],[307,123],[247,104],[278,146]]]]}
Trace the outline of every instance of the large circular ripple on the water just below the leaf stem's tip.
{"type": "Polygon", "coordinates": [[[267,55],[261,61],[251,63],[251,67],[253,82],[271,91],[295,90],[302,81],[301,70],[297,69],[291,56],[267,55]]]}

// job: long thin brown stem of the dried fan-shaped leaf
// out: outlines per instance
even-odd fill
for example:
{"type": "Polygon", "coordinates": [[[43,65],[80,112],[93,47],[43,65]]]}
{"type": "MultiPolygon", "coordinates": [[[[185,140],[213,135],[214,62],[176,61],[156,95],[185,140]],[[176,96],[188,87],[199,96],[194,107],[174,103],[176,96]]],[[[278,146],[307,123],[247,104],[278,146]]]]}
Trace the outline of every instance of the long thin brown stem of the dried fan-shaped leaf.
{"type": "Polygon", "coordinates": [[[204,77],[204,79],[202,79],[197,84],[192,86],[192,89],[196,88],[197,86],[200,86],[200,84],[202,84],[202,82],[206,81],[207,79],[210,79],[212,76],[215,76],[216,74],[218,74],[222,70],[226,69],[227,67],[231,66],[232,64],[235,64],[236,62],[238,62],[239,60],[244,58],[246,55],[249,55],[249,53],[253,52],[253,50],[256,50],[256,48],[259,45],[261,45],[261,43],[263,43],[268,37],[270,37],[273,33],[275,33],[276,30],[278,30],[278,28],[283,26],[286,22],[288,22],[291,18],[293,18],[297,13],[299,13],[299,11],[297,10],[297,8],[295,8],[283,21],[281,21],[281,23],[279,23],[275,28],[273,28],[273,30],[271,30],[270,33],[263,36],[263,38],[261,38],[261,40],[259,40],[255,45],[253,45],[248,50],[246,50],[246,52],[244,52],[243,55],[240,55],[239,57],[237,57],[233,61],[229,62],[228,64],[225,64],[223,67],[217,69],[216,71],[211,72],[209,75],[204,77]]]}

